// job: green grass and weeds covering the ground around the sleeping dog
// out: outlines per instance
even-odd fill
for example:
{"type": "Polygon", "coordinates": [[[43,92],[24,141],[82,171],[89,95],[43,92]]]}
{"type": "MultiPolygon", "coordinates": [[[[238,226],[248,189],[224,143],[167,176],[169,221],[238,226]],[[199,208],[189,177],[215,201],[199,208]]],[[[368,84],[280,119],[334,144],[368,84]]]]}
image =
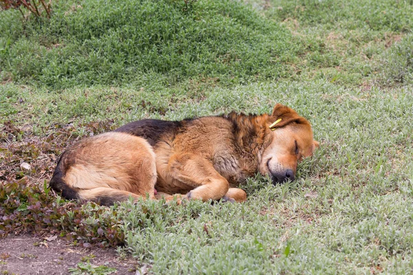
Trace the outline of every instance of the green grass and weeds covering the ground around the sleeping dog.
{"type": "MultiPolygon", "coordinates": [[[[10,80],[0,86],[0,233],[59,230],[76,243],[125,243],[120,255],[134,256],[153,274],[412,272],[413,3],[196,1],[183,10],[180,1],[159,1],[150,9],[147,1],[133,8],[138,1],[124,2],[113,10],[99,7],[100,1],[79,2],[82,8],[75,10],[72,2],[59,3],[53,23],[30,21],[25,30],[14,20],[18,14],[0,13],[14,22],[14,31],[1,32],[0,39],[3,45],[12,41],[0,51],[0,63],[10,64],[1,71],[10,80]],[[170,17],[162,14],[165,6],[170,17]],[[194,52],[177,50],[184,45],[176,44],[183,36],[174,40],[182,34],[176,21],[172,39],[162,40],[174,45],[169,50],[176,59],[169,65],[161,54],[145,58],[146,71],[132,72],[131,63],[117,63],[114,54],[96,57],[97,64],[106,61],[112,69],[122,64],[119,72],[127,72],[119,77],[91,56],[79,57],[83,50],[93,53],[93,43],[112,49],[114,37],[126,30],[137,39],[131,25],[145,21],[132,19],[145,9],[158,26],[165,27],[158,19],[183,17],[189,24],[187,44],[182,43],[187,49],[209,57],[234,49],[244,58],[229,63],[187,58],[194,52]],[[193,21],[197,16],[206,21],[193,21]],[[88,25],[88,18],[98,23],[88,25]],[[85,27],[76,29],[77,24],[85,27]],[[202,39],[198,48],[194,32],[209,25],[210,40],[202,39]],[[223,29],[229,32],[218,36],[223,29]],[[47,50],[42,37],[65,46],[47,50]],[[87,42],[76,53],[70,45],[78,41],[87,42]],[[30,58],[33,49],[41,49],[42,61],[30,58]],[[275,63],[267,60],[272,50],[275,63]],[[62,52],[62,60],[73,63],[72,73],[45,74],[62,52]],[[23,59],[17,56],[42,69],[22,67],[30,74],[21,73],[17,64],[23,59]],[[81,137],[141,118],[264,113],[275,102],[308,118],[321,146],[299,165],[294,182],[272,186],[260,175],[248,179],[242,186],[246,203],[146,201],[104,208],[65,202],[43,187],[56,157],[81,137]],[[22,162],[31,170],[21,168],[22,162]]],[[[134,50],[143,49],[119,47],[133,61],[139,56],[134,50]]]]}

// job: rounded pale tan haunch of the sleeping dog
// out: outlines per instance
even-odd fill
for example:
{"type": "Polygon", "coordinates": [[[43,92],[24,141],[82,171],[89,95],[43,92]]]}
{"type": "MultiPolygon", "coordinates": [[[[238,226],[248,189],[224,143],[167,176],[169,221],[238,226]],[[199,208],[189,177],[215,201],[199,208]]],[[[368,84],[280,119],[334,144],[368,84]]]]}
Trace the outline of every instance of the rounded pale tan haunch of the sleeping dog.
{"type": "Polygon", "coordinates": [[[68,169],[63,180],[79,199],[134,197],[154,199],[155,153],[146,140],[126,133],[88,137],[66,151],[68,169]]]}

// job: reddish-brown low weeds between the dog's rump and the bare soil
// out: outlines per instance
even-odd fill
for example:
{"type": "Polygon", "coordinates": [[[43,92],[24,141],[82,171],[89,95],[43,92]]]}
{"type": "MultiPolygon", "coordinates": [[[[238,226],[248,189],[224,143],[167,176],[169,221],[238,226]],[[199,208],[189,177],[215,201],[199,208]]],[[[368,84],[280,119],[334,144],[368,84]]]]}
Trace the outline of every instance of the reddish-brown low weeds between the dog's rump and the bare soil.
{"type": "Polygon", "coordinates": [[[76,243],[100,246],[123,243],[123,232],[118,226],[122,220],[116,213],[96,204],[63,203],[60,197],[46,195],[39,186],[29,188],[16,181],[2,184],[0,205],[3,236],[10,232],[59,230],[65,232],[66,239],[76,243]]]}

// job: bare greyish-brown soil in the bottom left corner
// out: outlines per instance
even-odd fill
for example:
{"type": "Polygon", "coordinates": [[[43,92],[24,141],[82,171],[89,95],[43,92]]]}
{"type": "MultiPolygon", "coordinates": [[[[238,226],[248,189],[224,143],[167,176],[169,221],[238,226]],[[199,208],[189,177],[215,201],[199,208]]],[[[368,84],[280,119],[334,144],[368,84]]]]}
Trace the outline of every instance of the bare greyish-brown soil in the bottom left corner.
{"type": "Polygon", "coordinates": [[[56,236],[20,234],[0,238],[0,274],[70,274],[70,268],[87,259],[92,265],[115,268],[112,274],[140,274],[136,272],[136,261],[119,259],[113,248],[83,248],[56,236]]]}

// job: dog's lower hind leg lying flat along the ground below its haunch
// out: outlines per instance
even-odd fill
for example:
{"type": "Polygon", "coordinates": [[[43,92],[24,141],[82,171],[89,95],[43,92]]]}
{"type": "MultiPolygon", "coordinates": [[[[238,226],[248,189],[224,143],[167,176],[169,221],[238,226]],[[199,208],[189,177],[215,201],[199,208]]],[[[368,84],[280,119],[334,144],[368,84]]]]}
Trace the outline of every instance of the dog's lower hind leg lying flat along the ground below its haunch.
{"type": "MultiPolygon", "coordinates": [[[[117,201],[127,201],[130,197],[134,200],[140,198],[146,199],[145,195],[136,195],[132,192],[118,190],[109,187],[98,187],[87,190],[79,190],[78,195],[82,200],[85,201],[95,201],[103,206],[112,206],[117,201]]],[[[149,199],[155,199],[153,190],[148,193],[149,199]]]]}

